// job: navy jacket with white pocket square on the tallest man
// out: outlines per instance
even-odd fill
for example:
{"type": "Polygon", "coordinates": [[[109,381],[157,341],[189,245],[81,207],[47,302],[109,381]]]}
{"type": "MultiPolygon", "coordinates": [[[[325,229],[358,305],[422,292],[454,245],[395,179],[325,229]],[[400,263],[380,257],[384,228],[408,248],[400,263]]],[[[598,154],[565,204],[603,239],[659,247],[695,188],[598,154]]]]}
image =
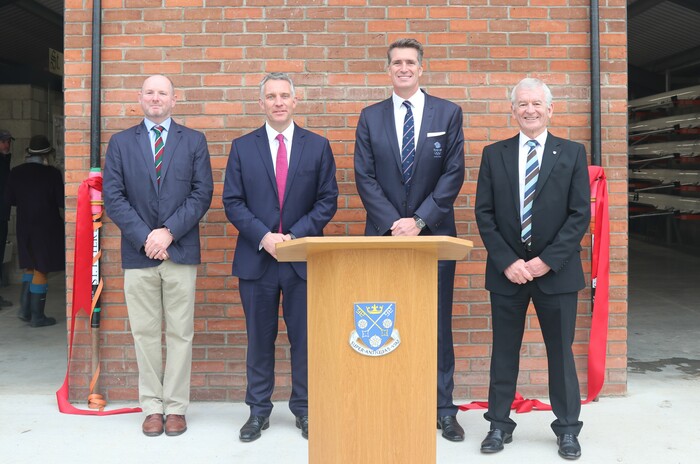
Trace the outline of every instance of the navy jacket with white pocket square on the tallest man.
{"type": "Polygon", "coordinates": [[[400,218],[420,216],[421,235],[457,235],[454,202],[464,182],[462,109],[425,95],[423,120],[406,194],[392,99],[363,109],[355,135],[355,182],[367,210],[365,235],[390,234],[400,218]]]}

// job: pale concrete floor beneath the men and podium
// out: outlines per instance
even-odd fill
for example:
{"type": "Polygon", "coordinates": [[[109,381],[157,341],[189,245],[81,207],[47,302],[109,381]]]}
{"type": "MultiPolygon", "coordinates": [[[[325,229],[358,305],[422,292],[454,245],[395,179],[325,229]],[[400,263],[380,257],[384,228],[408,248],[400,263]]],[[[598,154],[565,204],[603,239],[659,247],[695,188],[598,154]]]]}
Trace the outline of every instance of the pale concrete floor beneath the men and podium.
{"type": "MultiPolygon", "coordinates": [[[[694,464],[700,461],[700,425],[694,420],[700,415],[697,257],[638,242],[632,242],[630,255],[629,392],[583,407],[579,462],[694,464]]],[[[0,291],[13,301],[17,292],[17,286],[0,291]]],[[[59,319],[53,327],[30,329],[15,317],[14,308],[0,311],[0,464],[307,462],[307,442],[284,403],[276,405],[270,429],[249,444],[238,440],[248,415],[240,403],[193,403],[189,430],[180,437],[145,437],[139,414],[58,413],[54,392],[63,381],[66,358],[64,294],[55,276],[47,311],[59,319]]],[[[549,412],[515,417],[519,427],[513,443],[496,455],[479,452],[488,429],[481,413],[459,418],[467,438],[451,443],[438,436],[440,464],[563,462],[549,412]]],[[[371,440],[371,433],[358,433],[371,440]]]]}

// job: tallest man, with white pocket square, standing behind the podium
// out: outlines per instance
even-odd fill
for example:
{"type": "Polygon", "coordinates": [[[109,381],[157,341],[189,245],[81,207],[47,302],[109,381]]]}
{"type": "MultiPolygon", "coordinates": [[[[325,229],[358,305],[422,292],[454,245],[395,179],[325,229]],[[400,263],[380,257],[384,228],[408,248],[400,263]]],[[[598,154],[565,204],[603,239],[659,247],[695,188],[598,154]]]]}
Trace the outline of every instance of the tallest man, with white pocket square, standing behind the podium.
{"type": "MultiPolygon", "coordinates": [[[[391,98],[362,110],[355,135],[355,181],[367,210],[365,235],[456,236],[454,202],[464,182],[462,110],[420,89],[423,46],[389,46],[391,98]]],[[[438,263],[437,427],[464,440],[452,402],[454,261],[438,263]]]]}

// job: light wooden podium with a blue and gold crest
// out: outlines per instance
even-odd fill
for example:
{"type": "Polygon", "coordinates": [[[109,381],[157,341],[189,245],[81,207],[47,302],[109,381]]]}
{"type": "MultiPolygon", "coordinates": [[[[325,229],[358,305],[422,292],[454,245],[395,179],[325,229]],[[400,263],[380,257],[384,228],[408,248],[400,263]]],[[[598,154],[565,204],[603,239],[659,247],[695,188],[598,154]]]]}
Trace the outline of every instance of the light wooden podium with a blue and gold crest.
{"type": "Polygon", "coordinates": [[[471,246],[444,236],[277,246],[280,261],[308,262],[310,463],[435,463],[437,261],[471,246]]]}

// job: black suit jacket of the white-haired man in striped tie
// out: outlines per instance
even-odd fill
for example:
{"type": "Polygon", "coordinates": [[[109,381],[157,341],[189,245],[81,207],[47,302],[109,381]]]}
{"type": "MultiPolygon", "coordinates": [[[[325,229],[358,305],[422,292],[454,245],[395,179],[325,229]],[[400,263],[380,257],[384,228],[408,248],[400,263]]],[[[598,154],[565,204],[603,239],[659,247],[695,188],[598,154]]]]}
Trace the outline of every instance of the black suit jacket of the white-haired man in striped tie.
{"type": "MultiPolygon", "coordinates": [[[[476,189],[476,222],[488,251],[486,289],[513,295],[519,286],[503,273],[528,260],[520,239],[518,136],[484,148],[476,189]]],[[[591,219],[586,151],[580,143],[547,135],[532,206],[532,251],[551,270],[536,278],[547,294],[585,286],[581,239],[591,219]]]]}

